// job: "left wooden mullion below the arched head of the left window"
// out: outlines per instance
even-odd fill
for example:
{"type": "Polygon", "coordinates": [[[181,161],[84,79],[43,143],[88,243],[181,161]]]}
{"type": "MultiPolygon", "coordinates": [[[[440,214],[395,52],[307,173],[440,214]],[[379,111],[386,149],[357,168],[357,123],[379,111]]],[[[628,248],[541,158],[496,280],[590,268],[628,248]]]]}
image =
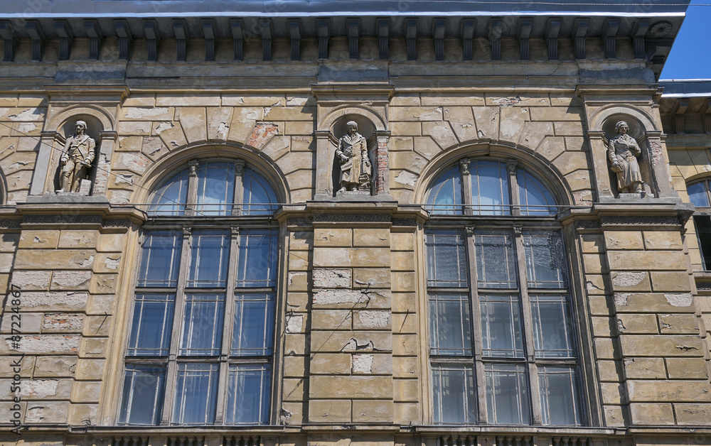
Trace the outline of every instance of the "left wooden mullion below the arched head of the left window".
{"type": "Polygon", "coordinates": [[[178,288],[176,289],[176,305],[173,312],[173,332],[171,333],[171,347],[168,357],[168,370],[166,371],[166,390],[163,403],[163,413],[161,415],[161,425],[170,423],[171,408],[175,396],[176,384],[176,357],[181,342],[181,330],[183,328],[183,312],[185,310],[185,284],[188,277],[188,263],[190,260],[190,239],[191,228],[183,228],[183,246],[181,249],[180,271],[178,273],[178,288]]]}

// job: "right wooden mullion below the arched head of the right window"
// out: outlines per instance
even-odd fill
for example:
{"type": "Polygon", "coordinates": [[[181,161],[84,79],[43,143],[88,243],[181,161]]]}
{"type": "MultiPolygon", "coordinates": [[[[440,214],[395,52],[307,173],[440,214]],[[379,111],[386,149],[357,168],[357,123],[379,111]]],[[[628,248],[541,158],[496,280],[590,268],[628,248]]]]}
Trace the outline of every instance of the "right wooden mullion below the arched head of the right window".
{"type": "Polygon", "coordinates": [[[528,281],[526,280],[526,259],[523,248],[522,228],[513,228],[516,241],[516,259],[518,261],[518,281],[521,296],[521,316],[523,317],[523,330],[526,339],[526,362],[528,365],[528,382],[530,388],[530,401],[533,408],[533,424],[542,424],[540,408],[540,391],[538,389],[538,367],[535,364],[535,349],[533,343],[533,322],[531,318],[531,304],[528,297],[528,281]]]}

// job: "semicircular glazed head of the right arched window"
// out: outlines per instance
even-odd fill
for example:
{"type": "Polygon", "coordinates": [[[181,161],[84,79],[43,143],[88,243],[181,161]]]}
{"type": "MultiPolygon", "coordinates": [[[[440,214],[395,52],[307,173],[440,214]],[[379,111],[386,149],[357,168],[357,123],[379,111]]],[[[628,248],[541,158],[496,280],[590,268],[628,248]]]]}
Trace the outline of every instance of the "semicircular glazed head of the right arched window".
{"type": "Polygon", "coordinates": [[[515,163],[464,158],[434,180],[427,193],[432,214],[553,215],[550,190],[515,163]],[[513,191],[518,188],[518,195],[513,191]]]}

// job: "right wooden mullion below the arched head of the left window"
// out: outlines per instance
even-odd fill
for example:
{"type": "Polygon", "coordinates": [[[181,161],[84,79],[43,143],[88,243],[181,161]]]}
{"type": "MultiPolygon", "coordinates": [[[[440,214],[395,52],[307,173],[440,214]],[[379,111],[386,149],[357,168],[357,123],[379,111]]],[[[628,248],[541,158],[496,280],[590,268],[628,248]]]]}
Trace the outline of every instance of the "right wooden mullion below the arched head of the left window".
{"type": "Polygon", "coordinates": [[[228,373],[230,370],[230,350],[232,349],[232,330],[235,324],[235,280],[237,276],[237,249],[240,228],[230,227],[230,254],[225,290],[225,330],[223,330],[222,348],[220,349],[220,380],[218,381],[218,407],[215,412],[215,424],[225,422],[225,399],[227,395],[228,373]]]}

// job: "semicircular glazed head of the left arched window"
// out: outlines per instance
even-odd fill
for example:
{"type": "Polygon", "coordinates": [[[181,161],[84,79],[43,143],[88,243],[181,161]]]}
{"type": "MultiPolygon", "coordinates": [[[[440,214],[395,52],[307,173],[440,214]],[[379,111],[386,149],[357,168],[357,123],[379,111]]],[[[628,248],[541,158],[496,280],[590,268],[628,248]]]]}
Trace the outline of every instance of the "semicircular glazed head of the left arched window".
{"type": "Polygon", "coordinates": [[[244,161],[193,160],[151,194],[151,215],[270,215],[277,194],[244,161]]]}

